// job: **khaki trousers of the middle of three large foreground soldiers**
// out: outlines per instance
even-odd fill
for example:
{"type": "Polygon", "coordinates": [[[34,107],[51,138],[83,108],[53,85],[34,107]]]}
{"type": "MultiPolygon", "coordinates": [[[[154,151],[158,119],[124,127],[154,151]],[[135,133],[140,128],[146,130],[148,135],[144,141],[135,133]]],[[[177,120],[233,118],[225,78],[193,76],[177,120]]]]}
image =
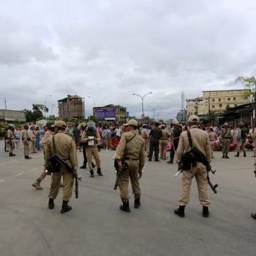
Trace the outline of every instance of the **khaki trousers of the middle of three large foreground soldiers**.
{"type": "Polygon", "coordinates": [[[119,181],[120,196],[122,200],[129,200],[129,178],[132,184],[132,192],[135,199],[140,197],[140,178],[138,161],[126,161],[129,165],[128,170],[121,172],[121,179],[119,181]]]}

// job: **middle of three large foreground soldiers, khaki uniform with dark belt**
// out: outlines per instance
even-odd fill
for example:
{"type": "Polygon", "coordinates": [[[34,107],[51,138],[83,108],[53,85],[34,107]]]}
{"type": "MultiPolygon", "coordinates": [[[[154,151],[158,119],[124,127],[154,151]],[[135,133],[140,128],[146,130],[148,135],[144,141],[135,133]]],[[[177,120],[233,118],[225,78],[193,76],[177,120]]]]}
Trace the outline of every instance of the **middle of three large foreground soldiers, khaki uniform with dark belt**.
{"type": "Polygon", "coordinates": [[[120,206],[120,209],[130,212],[129,178],[132,183],[132,192],[135,195],[135,208],[140,208],[140,177],[145,164],[145,142],[135,131],[138,127],[135,119],[129,120],[124,126],[127,129],[116,148],[116,161],[118,162],[118,170],[121,171],[119,189],[123,205],[120,206]],[[126,169],[124,169],[124,163],[128,165],[126,169]]]}

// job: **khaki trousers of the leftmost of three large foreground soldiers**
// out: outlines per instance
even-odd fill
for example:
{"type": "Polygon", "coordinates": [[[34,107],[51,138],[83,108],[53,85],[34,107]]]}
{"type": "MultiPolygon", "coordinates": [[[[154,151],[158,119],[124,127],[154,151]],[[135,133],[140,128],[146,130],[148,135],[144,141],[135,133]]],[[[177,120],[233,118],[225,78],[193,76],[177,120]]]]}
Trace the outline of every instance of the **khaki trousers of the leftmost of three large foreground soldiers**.
{"type": "Polygon", "coordinates": [[[48,197],[51,199],[56,199],[61,184],[61,176],[63,176],[63,200],[69,201],[70,197],[72,196],[74,176],[71,172],[65,169],[61,169],[59,173],[52,174],[48,197]]]}

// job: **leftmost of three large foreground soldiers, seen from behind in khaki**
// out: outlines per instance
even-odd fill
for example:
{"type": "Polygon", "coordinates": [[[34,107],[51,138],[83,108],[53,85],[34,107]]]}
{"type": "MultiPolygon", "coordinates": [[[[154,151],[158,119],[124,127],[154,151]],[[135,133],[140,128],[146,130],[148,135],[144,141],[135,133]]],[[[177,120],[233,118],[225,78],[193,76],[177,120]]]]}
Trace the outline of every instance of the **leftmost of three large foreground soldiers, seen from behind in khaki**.
{"type": "MultiPolygon", "coordinates": [[[[78,157],[76,153],[76,146],[74,140],[66,135],[65,129],[67,127],[64,121],[56,121],[55,125],[55,135],[54,141],[56,145],[56,154],[61,157],[67,164],[72,167],[73,170],[78,169],[78,157]]],[[[45,148],[45,165],[46,168],[49,165],[49,159],[53,155],[53,136],[48,138],[45,148]]],[[[72,209],[69,206],[69,199],[72,195],[72,187],[74,183],[73,173],[69,172],[65,167],[61,167],[59,172],[55,172],[52,174],[52,181],[50,184],[50,192],[49,192],[49,209],[54,208],[54,200],[56,199],[59,193],[59,187],[61,182],[61,176],[63,176],[63,203],[61,208],[61,214],[64,214],[67,211],[72,209]]]]}

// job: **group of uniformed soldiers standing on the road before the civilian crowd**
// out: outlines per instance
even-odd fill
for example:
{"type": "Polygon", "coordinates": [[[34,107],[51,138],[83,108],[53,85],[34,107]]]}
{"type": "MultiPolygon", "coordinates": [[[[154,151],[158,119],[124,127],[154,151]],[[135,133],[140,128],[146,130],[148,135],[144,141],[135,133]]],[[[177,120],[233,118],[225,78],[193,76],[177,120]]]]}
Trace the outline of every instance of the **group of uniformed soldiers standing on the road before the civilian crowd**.
{"type": "MultiPolygon", "coordinates": [[[[197,181],[199,200],[203,206],[203,217],[209,216],[208,207],[210,202],[208,200],[208,170],[204,162],[198,159],[190,159],[191,164],[189,169],[184,169],[184,156],[189,154],[193,147],[197,148],[207,161],[210,162],[213,157],[212,154],[212,141],[214,139],[213,129],[209,129],[208,132],[199,128],[198,116],[192,115],[188,119],[189,129],[184,129],[178,122],[173,122],[173,129],[167,131],[165,124],[159,126],[158,123],[154,124],[154,128],[148,133],[146,131],[146,125],[138,132],[138,122],[135,119],[131,119],[127,124],[123,125],[121,140],[116,148],[116,162],[118,172],[121,173],[118,187],[120,189],[121,197],[121,211],[130,212],[129,207],[129,180],[132,184],[132,192],[134,194],[134,207],[140,208],[140,178],[143,174],[143,166],[145,165],[145,158],[148,156],[148,161],[151,162],[154,153],[154,160],[159,161],[159,148],[160,158],[166,159],[166,146],[167,141],[171,136],[173,142],[172,149],[170,151],[169,163],[173,163],[174,155],[176,155],[176,162],[178,163],[178,169],[182,172],[181,178],[181,198],[178,200],[178,208],[174,210],[174,213],[179,217],[185,216],[185,206],[189,203],[189,192],[192,184],[192,178],[195,177],[197,181]],[[213,132],[213,133],[212,133],[213,132]],[[146,144],[149,142],[149,150],[146,144]]],[[[44,137],[41,140],[40,146],[44,150],[45,165],[44,170],[37,180],[32,184],[36,189],[42,189],[40,183],[49,174],[51,174],[50,192],[48,208],[54,208],[54,200],[59,193],[59,187],[63,187],[63,203],[61,213],[70,211],[72,207],[69,205],[69,200],[72,195],[72,187],[74,183],[74,173],[77,175],[78,170],[78,157],[77,157],[77,144],[72,137],[67,135],[67,124],[64,121],[48,121],[46,124],[47,130],[44,137]],[[58,155],[67,166],[60,166],[58,170],[53,170],[53,157],[58,155]],[[73,172],[70,172],[69,169],[73,172]],[[52,170],[52,171],[49,171],[52,170]],[[61,184],[61,177],[63,177],[63,184],[61,184]]],[[[238,147],[243,150],[243,127],[238,127],[238,138],[241,138],[241,143],[238,141],[238,147]]],[[[22,140],[24,144],[24,156],[26,159],[29,157],[29,135],[27,130],[29,127],[24,126],[22,132],[22,140]]],[[[95,127],[93,121],[80,124],[82,130],[80,146],[83,148],[83,165],[80,168],[86,168],[89,165],[89,172],[91,178],[94,177],[94,162],[97,166],[97,174],[103,176],[101,170],[101,162],[99,158],[99,143],[100,135],[95,127]]],[[[11,138],[11,132],[9,132],[11,138]]],[[[228,158],[228,147],[232,140],[232,135],[227,123],[225,123],[220,132],[220,138],[223,145],[222,158],[228,158]]],[[[12,153],[12,151],[10,151],[12,153]]],[[[244,156],[246,156],[244,154],[244,156]]],[[[239,152],[236,154],[239,157],[239,152]]],[[[256,166],[256,164],[255,164],[256,166]]],[[[256,219],[256,214],[252,213],[252,217],[256,219]]]]}

